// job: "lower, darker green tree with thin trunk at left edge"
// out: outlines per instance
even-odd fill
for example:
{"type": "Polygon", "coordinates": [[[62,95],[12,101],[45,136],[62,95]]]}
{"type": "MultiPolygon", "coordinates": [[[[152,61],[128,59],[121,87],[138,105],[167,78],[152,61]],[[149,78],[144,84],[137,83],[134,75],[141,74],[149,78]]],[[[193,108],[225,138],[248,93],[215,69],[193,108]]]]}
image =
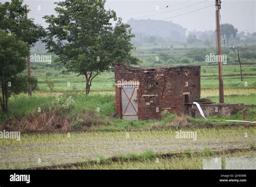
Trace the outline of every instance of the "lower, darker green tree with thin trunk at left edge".
{"type": "MultiPolygon", "coordinates": [[[[25,56],[29,53],[29,48],[25,42],[18,40],[14,35],[9,35],[0,30],[0,85],[2,91],[1,107],[4,112],[8,112],[8,98],[13,86],[19,85],[17,74],[26,68],[25,56]],[[16,82],[14,84],[14,82],[16,82]]],[[[19,89],[12,89],[18,92],[19,89]]]]}

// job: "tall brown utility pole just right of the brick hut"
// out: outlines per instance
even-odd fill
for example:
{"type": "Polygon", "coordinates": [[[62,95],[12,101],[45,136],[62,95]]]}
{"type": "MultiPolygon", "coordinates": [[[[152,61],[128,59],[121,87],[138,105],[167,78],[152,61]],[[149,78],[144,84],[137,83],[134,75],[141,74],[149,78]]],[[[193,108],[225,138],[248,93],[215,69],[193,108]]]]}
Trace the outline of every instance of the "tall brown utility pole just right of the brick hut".
{"type": "Polygon", "coordinates": [[[218,49],[218,64],[219,64],[219,102],[224,103],[224,88],[223,88],[223,64],[221,58],[221,36],[220,36],[220,0],[215,0],[216,11],[216,27],[217,27],[217,49],[218,49]]]}

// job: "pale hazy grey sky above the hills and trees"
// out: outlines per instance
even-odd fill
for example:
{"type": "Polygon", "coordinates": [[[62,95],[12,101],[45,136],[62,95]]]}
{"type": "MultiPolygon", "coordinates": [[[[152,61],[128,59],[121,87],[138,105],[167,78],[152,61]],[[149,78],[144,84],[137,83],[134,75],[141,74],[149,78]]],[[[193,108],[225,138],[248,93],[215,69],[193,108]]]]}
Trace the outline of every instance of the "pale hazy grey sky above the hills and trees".
{"type": "MultiPolygon", "coordinates": [[[[36,23],[47,26],[42,16],[54,13],[55,5],[53,3],[56,1],[59,0],[25,0],[24,4],[29,5],[30,18],[34,18],[36,23]]],[[[0,0],[0,2],[6,1],[0,0]]],[[[117,16],[122,17],[124,22],[130,18],[163,19],[177,23],[187,28],[188,31],[206,31],[215,30],[215,8],[213,4],[215,4],[215,0],[107,0],[105,8],[116,11],[117,16]],[[168,8],[166,8],[167,5],[168,8]],[[210,7],[205,8],[207,6],[210,7]],[[183,15],[185,13],[188,14],[183,15]]],[[[222,0],[222,23],[233,24],[239,32],[245,30],[251,33],[256,32],[255,10],[256,0],[222,0]]]]}

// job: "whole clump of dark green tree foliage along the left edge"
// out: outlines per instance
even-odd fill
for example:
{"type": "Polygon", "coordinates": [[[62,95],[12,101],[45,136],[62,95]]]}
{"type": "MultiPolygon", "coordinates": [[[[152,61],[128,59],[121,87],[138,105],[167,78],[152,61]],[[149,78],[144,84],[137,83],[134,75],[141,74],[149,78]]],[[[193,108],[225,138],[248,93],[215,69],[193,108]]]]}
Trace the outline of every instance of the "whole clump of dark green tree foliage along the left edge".
{"type": "Polygon", "coordinates": [[[29,47],[45,34],[42,26],[26,17],[29,10],[22,3],[21,0],[0,3],[0,85],[4,112],[8,112],[8,97],[12,93],[28,91],[28,82],[36,84],[35,78],[19,74],[26,69],[29,47]]]}

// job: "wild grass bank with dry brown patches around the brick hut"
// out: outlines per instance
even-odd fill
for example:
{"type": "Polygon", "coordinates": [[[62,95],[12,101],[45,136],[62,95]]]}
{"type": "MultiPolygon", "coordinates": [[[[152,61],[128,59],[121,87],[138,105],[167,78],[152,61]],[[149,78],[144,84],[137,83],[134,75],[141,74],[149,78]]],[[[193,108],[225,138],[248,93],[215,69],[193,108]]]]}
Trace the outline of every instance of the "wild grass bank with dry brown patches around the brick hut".
{"type": "MultiPolygon", "coordinates": [[[[58,95],[60,98],[60,96],[58,95]]],[[[228,127],[234,125],[244,125],[242,123],[232,123],[217,120],[242,120],[241,111],[231,117],[208,117],[210,121],[203,118],[187,118],[186,116],[176,116],[170,114],[161,120],[137,120],[129,121],[117,119],[114,105],[114,95],[99,94],[85,95],[84,93],[66,93],[64,98],[71,97],[76,106],[72,106],[68,111],[58,112],[55,103],[56,96],[38,95],[28,97],[19,95],[11,97],[9,105],[9,115],[0,113],[2,129],[5,124],[14,124],[12,130],[29,132],[49,132],[52,126],[56,126],[56,131],[124,131],[124,130],[161,130],[181,127],[228,127]],[[38,112],[38,107],[41,112],[38,112]],[[56,111],[57,110],[57,111],[56,111]],[[65,124],[64,126],[59,126],[65,124]],[[45,126],[48,124],[48,126],[45,126]],[[57,129],[57,126],[59,126],[57,129]],[[44,131],[45,128],[45,131],[44,131]]],[[[218,102],[217,97],[210,97],[214,102],[218,102]]],[[[225,97],[226,102],[244,102],[254,104],[256,95],[225,97]],[[230,99],[230,100],[228,100],[230,99]],[[241,99],[241,100],[239,100],[241,99]]],[[[58,106],[59,107],[59,106],[58,106]]],[[[247,107],[247,119],[256,121],[256,111],[253,107],[247,107]]],[[[5,126],[6,128],[6,126],[5,126]]],[[[1,125],[0,125],[1,129],[1,125]]]]}

